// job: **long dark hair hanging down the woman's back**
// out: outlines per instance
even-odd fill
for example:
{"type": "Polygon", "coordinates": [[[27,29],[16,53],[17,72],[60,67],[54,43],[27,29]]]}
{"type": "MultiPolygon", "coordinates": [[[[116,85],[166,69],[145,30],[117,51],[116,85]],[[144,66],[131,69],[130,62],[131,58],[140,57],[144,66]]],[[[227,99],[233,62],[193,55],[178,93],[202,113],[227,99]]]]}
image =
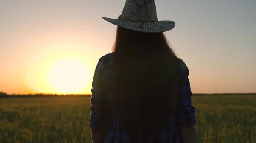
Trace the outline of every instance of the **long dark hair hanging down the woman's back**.
{"type": "Polygon", "coordinates": [[[129,138],[154,135],[175,113],[180,72],[178,58],[163,33],[117,27],[113,45],[111,106],[129,138]]]}

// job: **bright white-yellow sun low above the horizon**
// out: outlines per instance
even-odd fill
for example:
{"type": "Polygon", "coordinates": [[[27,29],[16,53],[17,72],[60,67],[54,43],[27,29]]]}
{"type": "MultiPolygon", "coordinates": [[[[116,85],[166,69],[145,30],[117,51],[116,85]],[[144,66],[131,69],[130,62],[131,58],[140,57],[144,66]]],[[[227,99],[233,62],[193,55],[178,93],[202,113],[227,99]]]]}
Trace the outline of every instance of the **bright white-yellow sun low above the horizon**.
{"type": "Polygon", "coordinates": [[[49,70],[49,83],[61,94],[76,94],[88,83],[85,64],[76,59],[62,59],[49,70]]]}

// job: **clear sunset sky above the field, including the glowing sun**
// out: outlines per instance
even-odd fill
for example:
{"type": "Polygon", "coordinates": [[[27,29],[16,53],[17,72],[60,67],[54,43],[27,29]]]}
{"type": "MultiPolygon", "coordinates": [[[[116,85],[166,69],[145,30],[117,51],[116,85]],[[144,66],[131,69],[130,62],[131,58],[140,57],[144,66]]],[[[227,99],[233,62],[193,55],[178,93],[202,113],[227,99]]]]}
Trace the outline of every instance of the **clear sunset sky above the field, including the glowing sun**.
{"type": "MultiPolygon", "coordinates": [[[[90,93],[125,0],[0,0],[0,91],[90,93]]],[[[193,93],[256,93],[256,0],[156,0],[193,93]]]]}

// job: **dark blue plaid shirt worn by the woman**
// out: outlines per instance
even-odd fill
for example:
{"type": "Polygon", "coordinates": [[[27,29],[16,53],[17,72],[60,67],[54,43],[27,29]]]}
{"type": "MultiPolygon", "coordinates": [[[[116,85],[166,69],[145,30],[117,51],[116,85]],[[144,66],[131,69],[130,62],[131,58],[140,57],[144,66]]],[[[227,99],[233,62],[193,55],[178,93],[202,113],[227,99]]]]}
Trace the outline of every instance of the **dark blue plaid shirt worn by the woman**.
{"type": "MultiPolygon", "coordinates": [[[[91,96],[90,127],[92,132],[107,130],[105,143],[130,143],[125,131],[120,130],[119,121],[113,121],[108,93],[108,78],[111,75],[113,53],[102,56],[96,66],[91,96]]],[[[189,70],[180,59],[183,81],[180,87],[181,100],[178,102],[176,115],[170,115],[169,122],[163,123],[163,129],[153,138],[157,143],[180,143],[177,128],[180,126],[195,125],[195,107],[191,104],[191,89],[188,79],[189,70]]],[[[152,138],[152,140],[153,140],[152,138]]],[[[139,134],[138,143],[142,143],[139,134]]]]}

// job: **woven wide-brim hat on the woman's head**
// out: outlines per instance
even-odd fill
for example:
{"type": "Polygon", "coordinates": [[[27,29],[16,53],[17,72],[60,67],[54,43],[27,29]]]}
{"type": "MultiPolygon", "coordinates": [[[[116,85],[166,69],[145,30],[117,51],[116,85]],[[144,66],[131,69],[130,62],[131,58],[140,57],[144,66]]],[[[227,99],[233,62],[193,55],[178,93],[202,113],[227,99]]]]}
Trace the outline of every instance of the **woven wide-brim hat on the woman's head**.
{"type": "Polygon", "coordinates": [[[148,33],[165,32],[175,27],[174,21],[158,21],[154,0],[126,0],[117,19],[102,18],[122,28],[148,33]]]}

